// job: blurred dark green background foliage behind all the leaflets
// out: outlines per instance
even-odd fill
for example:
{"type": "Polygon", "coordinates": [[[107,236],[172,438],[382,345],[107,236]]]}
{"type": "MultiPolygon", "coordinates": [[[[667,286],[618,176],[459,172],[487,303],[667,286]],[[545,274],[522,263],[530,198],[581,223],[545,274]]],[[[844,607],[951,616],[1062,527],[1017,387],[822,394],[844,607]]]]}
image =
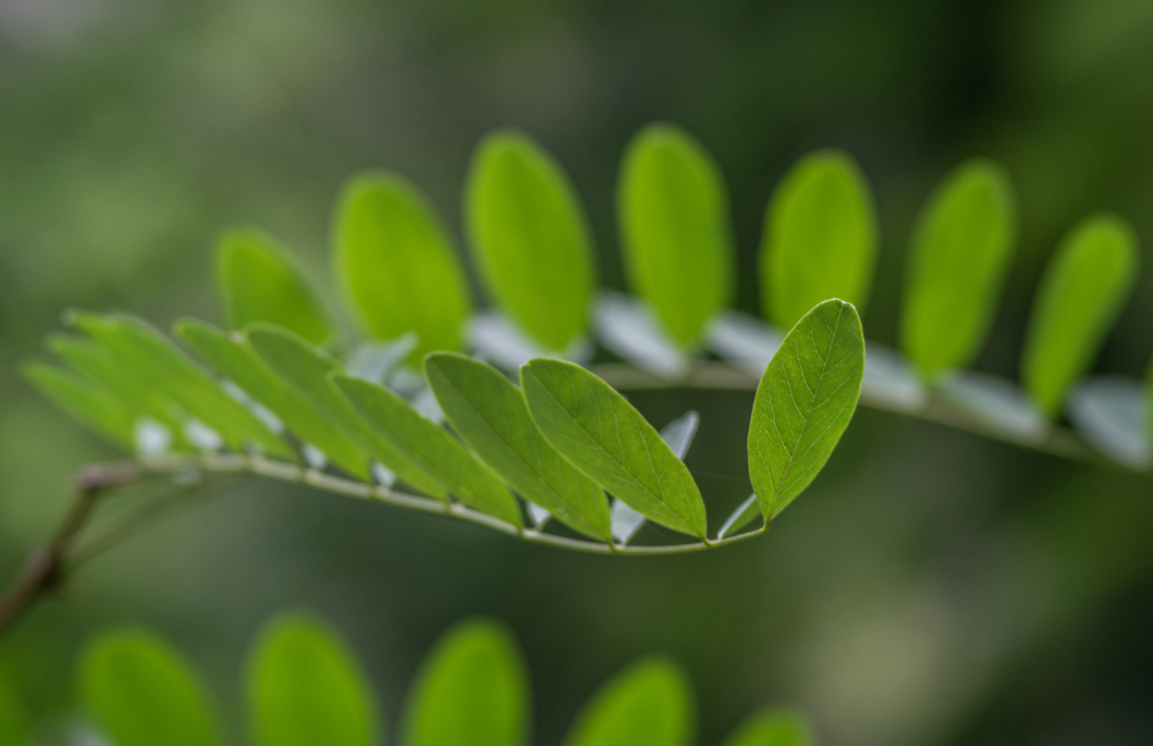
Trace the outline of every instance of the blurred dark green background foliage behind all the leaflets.
{"type": "MultiPolygon", "coordinates": [[[[877,195],[869,339],[895,341],[915,211],[969,156],[1008,165],[1022,214],[979,369],[1015,374],[1042,262],[1090,211],[1131,219],[1153,265],[1147,0],[5,0],[0,571],[46,535],[73,470],[112,455],[17,378],[61,309],[219,322],[210,253],[236,223],[326,277],[333,197],[366,168],[413,179],[459,239],[469,153],[499,126],[570,171],[603,284],[621,287],[618,159],[654,120],[717,157],[752,312],[766,201],[826,145],[852,151],[877,195]]],[[[1143,375],[1151,285],[1145,269],[1099,370],[1143,375]]],[[[713,512],[748,493],[751,392],[633,401],[657,425],[701,410],[688,464],[713,512]]],[[[392,721],[436,635],[488,613],[525,646],[542,744],[653,651],[689,671],[703,744],[767,702],[806,709],[835,746],[1150,743],[1151,535],[1145,476],[866,409],[767,537],[707,555],[573,555],[236,487],[86,567],[0,642],[0,672],[63,732],[82,641],[143,623],[236,702],[247,640],[307,608],[364,658],[392,721]]]]}

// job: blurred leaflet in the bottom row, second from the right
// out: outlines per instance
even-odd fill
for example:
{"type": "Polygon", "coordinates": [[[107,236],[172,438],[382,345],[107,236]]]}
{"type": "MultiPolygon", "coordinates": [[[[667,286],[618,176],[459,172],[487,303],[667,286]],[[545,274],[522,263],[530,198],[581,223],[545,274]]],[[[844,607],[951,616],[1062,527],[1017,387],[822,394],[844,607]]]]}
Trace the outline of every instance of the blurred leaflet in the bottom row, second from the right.
{"type": "Polygon", "coordinates": [[[651,658],[596,693],[565,746],[687,746],[694,718],[685,675],[669,661],[651,658]]]}

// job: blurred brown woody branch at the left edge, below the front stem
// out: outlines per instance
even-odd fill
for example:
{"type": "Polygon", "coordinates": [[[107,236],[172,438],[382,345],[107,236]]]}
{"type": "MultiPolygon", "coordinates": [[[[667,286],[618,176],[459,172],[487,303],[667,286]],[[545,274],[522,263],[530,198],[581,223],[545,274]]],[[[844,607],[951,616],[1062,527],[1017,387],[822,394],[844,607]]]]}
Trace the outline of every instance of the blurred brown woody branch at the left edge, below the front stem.
{"type": "Polygon", "coordinates": [[[76,497],[46,547],[29,557],[23,572],[0,596],[0,634],[3,634],[36,601],[60,587],[65,559],[76,535],[92,513],[97,498],[138,476],[131,464],[100,464],[84,468],[76,479],[76,497]]]}

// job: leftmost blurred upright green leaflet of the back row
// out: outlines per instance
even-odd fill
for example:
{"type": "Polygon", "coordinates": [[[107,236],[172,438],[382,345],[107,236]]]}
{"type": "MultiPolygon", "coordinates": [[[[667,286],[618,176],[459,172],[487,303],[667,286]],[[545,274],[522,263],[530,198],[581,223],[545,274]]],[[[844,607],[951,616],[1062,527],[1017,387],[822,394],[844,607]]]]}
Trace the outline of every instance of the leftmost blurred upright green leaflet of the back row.
{"type": "Polygon", "coordinates": [[[332,338],[332,325],[288,251],[255,229],[224,234],[217,244],[217,287],[229,329],[269,322],[314,345],[332,338]]]}

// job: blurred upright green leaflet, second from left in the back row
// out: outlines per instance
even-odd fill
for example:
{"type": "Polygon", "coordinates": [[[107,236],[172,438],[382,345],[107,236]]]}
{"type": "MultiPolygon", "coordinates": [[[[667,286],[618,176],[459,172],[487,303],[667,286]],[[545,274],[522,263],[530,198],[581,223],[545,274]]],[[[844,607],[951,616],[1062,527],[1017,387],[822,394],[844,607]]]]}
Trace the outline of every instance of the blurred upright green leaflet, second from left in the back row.
{"type": "Polygon", "coordinates": [[[432,208],[404,176],[364,174],[345,187],[333,261],[345,301],[372,337],[416,332],[413,364],[434,349],[460,349],[468,287],[432,208]]]}

